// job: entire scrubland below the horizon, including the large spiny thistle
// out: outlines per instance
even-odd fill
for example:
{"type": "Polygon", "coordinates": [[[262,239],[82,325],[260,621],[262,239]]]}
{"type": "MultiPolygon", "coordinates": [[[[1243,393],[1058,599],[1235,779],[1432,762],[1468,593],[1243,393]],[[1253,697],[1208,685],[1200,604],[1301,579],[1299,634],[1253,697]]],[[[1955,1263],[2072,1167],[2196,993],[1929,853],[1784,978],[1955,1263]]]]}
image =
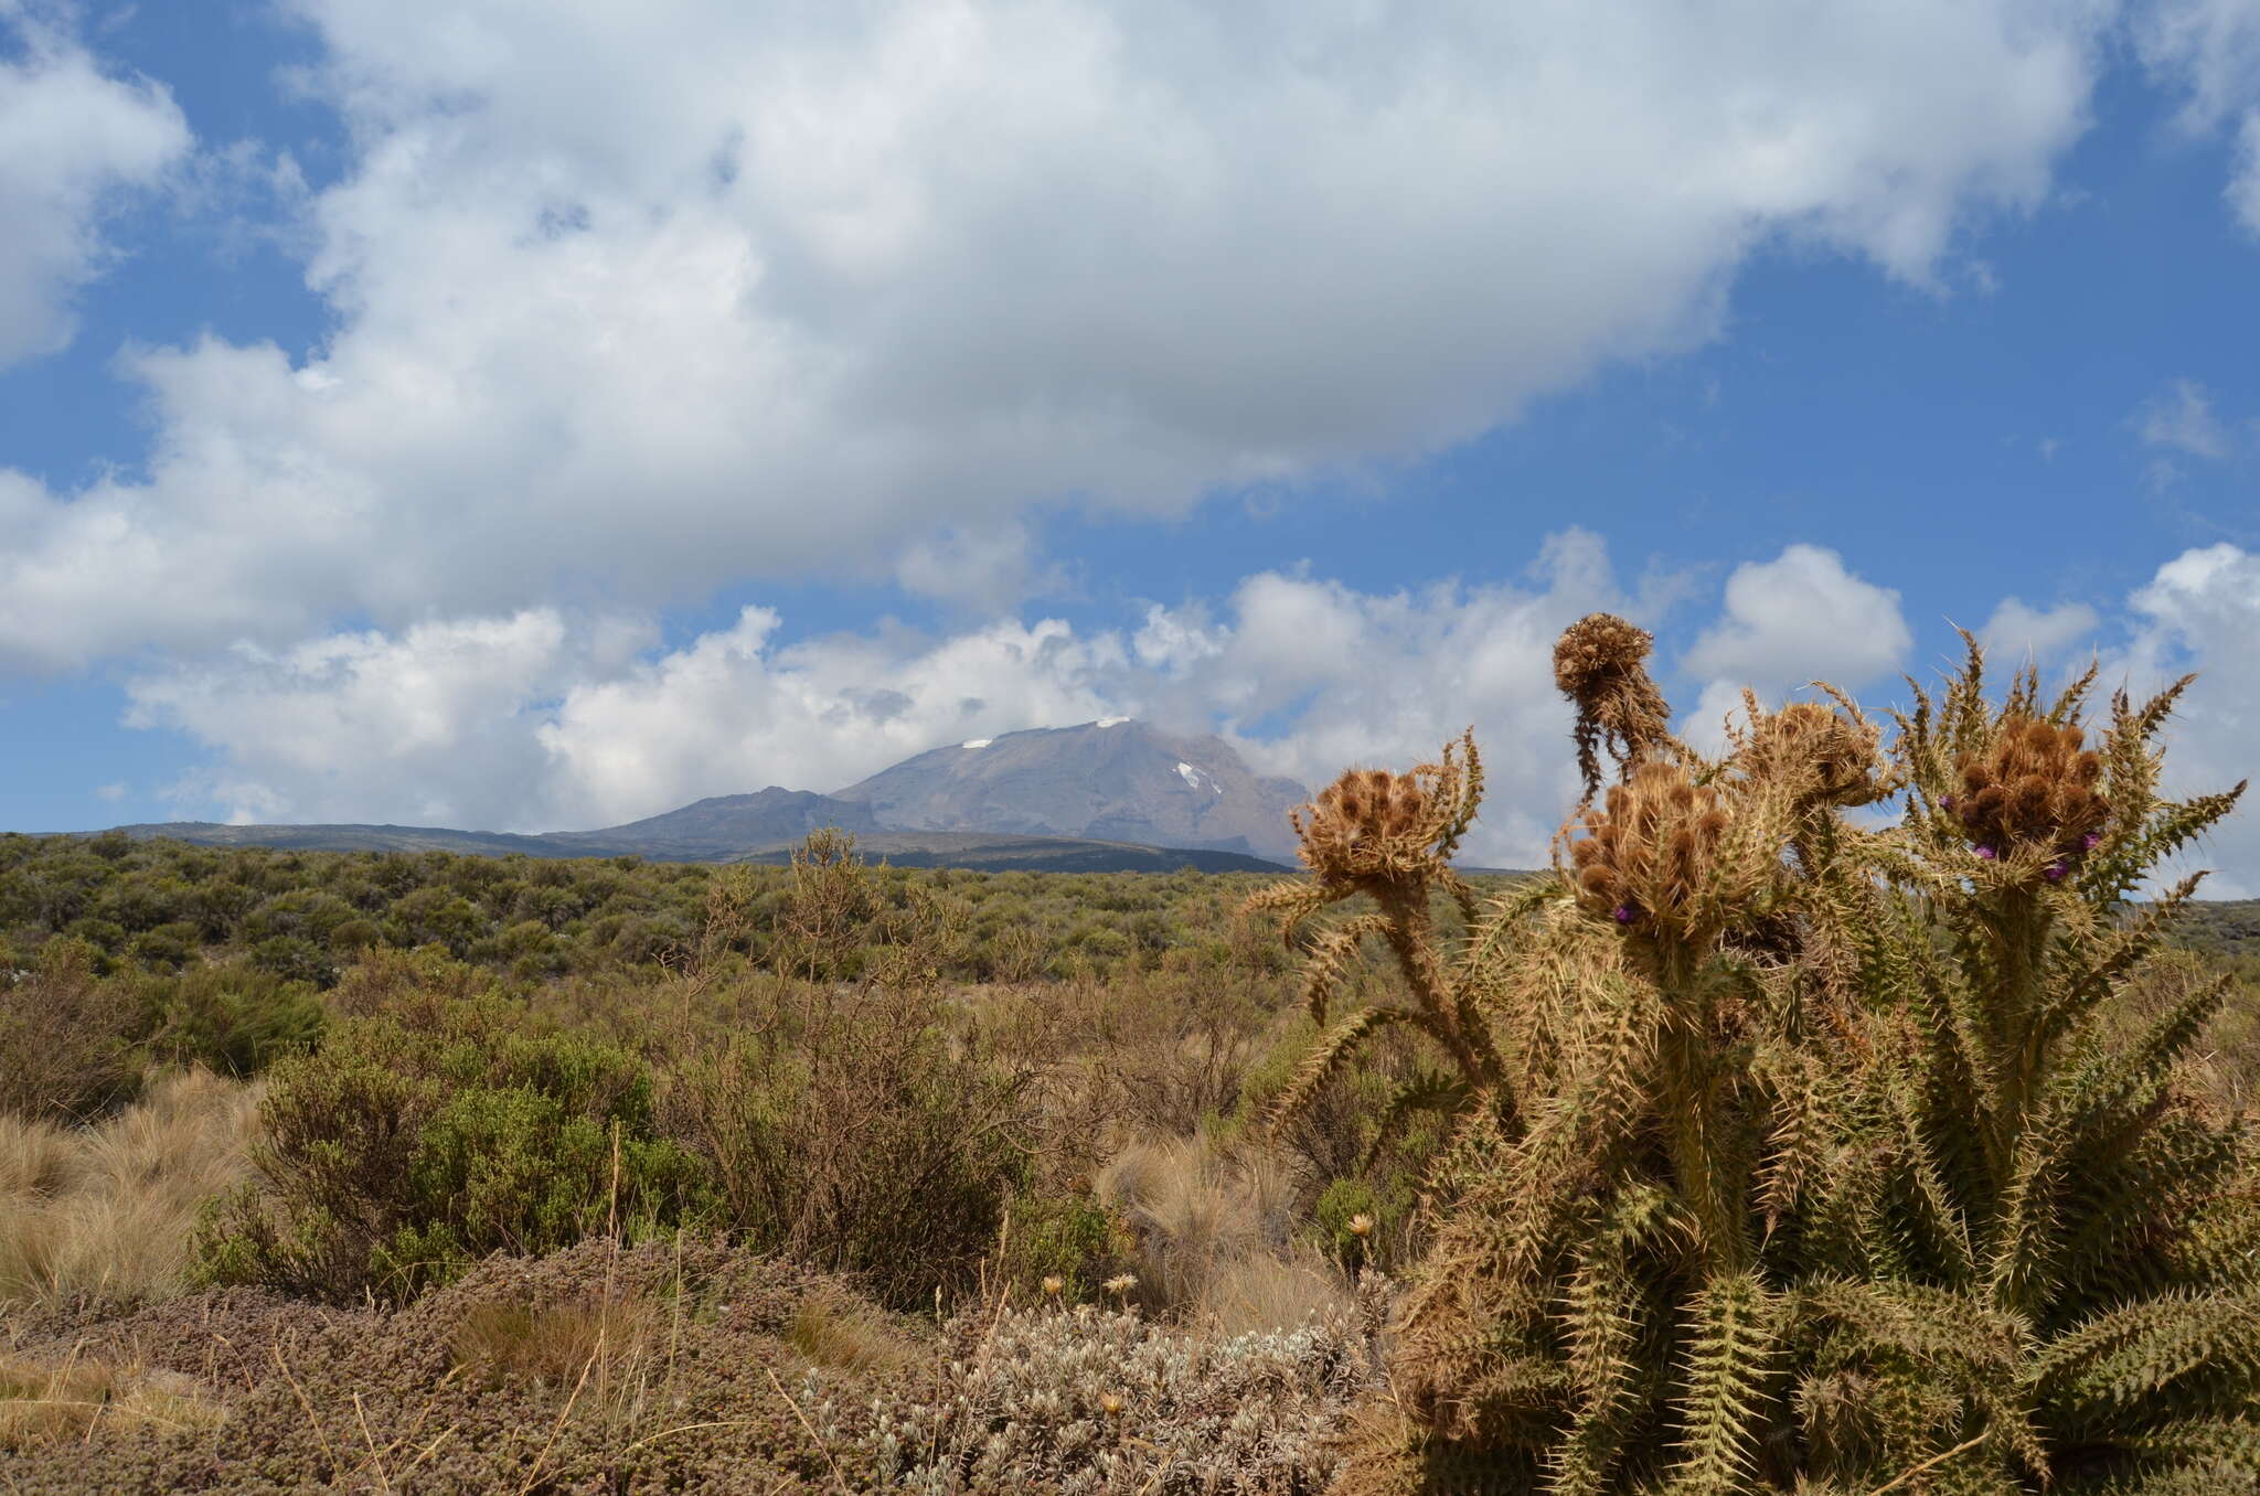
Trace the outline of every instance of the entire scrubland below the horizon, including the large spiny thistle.
{"type": "Polygon", "coordinates": [[[1272,886],[0,838],[0,1485],[2260,1489],[2172,694],[1643,653],[1512,884],[1474,739],[1272,886]]]}

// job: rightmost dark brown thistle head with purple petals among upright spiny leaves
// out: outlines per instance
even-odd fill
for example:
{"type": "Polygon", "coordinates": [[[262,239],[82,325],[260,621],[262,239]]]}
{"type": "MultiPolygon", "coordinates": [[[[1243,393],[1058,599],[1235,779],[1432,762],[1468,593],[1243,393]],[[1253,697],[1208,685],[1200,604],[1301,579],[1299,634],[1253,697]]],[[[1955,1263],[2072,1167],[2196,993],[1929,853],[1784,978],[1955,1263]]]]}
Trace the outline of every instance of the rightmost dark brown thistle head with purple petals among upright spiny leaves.
{"type": "Polygon", "coordinates": [[[2007,716],[1984,753],[1955,762],[1959,793],[1946,809],[1962,823],[1977,856],[2018,859],[2061,879],[2102,836],[2111,804],[2095,793],[2104,762],[2081,746],[2077,723],[2007,716]]]}

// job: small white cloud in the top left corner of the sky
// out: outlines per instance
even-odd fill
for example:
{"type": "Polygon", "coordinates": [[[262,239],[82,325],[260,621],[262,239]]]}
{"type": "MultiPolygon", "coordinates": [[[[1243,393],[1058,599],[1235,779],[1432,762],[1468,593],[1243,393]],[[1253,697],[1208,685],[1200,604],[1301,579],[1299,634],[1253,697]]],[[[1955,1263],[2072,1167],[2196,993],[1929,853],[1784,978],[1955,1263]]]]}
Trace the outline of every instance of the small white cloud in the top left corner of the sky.
{"type": "Polygon", "coordinates": [[[172,95],[108,77],[56,7],[0,0],[0,368],[70,341],[72,294],[108,260],[113,199],[190,147],[172,95]]]}

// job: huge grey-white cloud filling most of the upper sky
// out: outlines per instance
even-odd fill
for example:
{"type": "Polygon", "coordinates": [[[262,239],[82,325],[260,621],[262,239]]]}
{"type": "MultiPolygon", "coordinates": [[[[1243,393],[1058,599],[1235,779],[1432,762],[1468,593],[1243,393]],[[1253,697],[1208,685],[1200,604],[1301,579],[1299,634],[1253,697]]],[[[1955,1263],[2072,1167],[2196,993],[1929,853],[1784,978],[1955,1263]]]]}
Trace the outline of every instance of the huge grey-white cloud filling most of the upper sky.
{"type": "Polygon", "coordinates": [[[2109,7],[292,9],[355,142],[334,334],[131,359],[149,472],[41,497],[0,662],[949,588],[938,529],[1433,452],[1713,337],[1770,242],[1944,285],[2109,7]]]}

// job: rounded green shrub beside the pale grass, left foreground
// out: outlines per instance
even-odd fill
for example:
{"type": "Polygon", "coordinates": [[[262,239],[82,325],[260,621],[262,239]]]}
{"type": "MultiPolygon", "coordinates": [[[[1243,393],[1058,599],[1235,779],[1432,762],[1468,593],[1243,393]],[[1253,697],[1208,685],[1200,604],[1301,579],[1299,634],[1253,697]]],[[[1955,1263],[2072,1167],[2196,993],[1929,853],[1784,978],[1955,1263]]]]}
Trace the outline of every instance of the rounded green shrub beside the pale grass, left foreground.
{"type": "Polygon", "coordinates": [[[278,1064],[255,1180],[199,1234],[217,1284],[409,1299],[488,1252],[642,1236],[707,1204],[633,1055],[499,997],[407,992],[278,1064]]]}

